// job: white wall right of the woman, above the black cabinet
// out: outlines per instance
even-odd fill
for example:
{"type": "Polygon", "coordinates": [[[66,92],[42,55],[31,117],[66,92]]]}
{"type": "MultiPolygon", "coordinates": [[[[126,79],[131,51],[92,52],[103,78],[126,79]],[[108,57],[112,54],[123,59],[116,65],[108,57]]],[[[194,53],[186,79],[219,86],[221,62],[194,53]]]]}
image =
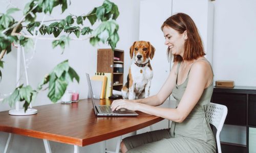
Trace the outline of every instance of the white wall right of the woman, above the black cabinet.
{"type": "Polygon", "coordinates": [[[215,1],[215,80],[256,86],[256,1],[215,1]]]}

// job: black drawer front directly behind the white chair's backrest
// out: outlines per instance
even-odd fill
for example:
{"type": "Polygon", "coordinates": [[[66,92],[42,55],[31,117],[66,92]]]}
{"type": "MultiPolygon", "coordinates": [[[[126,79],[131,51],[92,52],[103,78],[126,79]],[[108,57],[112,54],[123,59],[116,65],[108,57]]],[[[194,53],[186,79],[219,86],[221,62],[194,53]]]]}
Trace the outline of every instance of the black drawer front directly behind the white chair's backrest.
{"type": "Polygon", "coordinates": [[[246,94],[213,93],[212,103],[225,105],[225,124],[246,125],[246,94]]]}

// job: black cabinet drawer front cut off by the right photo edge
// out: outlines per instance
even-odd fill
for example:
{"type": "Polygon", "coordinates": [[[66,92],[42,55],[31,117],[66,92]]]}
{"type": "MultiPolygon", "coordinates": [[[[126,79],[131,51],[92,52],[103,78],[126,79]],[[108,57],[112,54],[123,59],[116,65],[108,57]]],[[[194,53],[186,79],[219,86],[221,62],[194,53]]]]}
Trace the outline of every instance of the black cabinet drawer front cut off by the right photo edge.
{"type": "Polygon", "coordinates": [[[256,94],[249,94],[248,124],[256,126],[256,94]]]}

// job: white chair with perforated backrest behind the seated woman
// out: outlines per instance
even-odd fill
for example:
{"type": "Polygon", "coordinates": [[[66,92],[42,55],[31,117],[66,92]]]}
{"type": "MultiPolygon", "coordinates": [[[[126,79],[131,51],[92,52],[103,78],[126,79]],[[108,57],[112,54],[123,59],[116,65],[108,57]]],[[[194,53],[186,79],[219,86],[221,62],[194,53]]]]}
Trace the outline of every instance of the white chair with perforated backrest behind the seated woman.
{"type": "Polygon", "coordinates": [[[210,103],[206,111],[206,116],[209,123],[214,125],[217,129],[216,141],[218,152],[221,153],[220,132],[227,116],[227,107],[220,104],[210,103]]]}

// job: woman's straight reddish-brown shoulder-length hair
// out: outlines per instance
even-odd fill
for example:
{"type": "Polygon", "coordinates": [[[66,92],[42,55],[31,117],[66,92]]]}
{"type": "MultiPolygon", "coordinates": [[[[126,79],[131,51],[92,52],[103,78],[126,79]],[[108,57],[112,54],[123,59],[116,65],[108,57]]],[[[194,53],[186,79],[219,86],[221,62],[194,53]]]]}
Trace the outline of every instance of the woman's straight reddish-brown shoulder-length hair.
{"type": "MultiPolygon", "coordinates": [[[[173,55],[174,62],[180,62],[183,60],[190,61],[205,55],[201,37],[198,33],[195,22],[190,16],[185,13],[177,13],[170,16],[163,22],[161,26],[162,31],[165,26],[173,28],[180,34],[187,31],[187,40],[184,44],[183,57],[180,55],[173,55]]],[[[169,48],[167,48],[167,56],[168,60],[172,58],[172,53],[170,53],[169,48]]]]}

